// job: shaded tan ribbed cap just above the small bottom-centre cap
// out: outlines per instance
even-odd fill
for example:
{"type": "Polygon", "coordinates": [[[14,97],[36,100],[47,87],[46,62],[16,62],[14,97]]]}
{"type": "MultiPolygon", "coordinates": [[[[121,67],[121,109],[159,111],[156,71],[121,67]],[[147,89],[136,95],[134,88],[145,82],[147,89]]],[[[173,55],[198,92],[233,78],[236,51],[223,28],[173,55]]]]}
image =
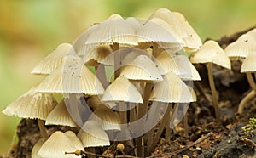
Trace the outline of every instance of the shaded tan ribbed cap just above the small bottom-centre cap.
{"type": "Polygon", "coordinates": [[[103,130],[121,130],[120,116],[104,104],[100,104],[96,107],[96,110],[90,116],[89,120],[97,121],[103,130]]]}

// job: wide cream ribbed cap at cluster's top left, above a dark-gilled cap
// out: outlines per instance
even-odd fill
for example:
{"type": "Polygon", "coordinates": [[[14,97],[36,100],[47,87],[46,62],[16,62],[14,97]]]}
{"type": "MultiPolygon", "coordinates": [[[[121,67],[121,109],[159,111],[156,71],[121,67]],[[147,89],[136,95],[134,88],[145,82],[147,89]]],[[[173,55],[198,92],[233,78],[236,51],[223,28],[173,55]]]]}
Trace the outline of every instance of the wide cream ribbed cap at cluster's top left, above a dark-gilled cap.
{"type": "Polygon", "coordinates": [[[137,45],[137,36],[133,27],[119,14],[111,15],[108,20],[99,24],[88,37],[86,44],[128,44],[137,45]]]}

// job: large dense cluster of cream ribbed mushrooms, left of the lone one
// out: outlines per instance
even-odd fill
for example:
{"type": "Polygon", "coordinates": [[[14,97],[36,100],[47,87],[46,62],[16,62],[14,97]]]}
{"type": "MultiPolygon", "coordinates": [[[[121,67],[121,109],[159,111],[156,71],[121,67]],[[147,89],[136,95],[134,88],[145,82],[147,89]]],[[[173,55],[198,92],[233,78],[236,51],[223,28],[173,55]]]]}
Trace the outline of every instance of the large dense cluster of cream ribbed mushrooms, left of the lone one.
{"type": "MultiPolygon", "coordinates": [[[[148,20],[113,14],[90,26],[73,45],[62,43],[46,56],[32,70],[45,75],[44,81],[3,113],[38,119],[42,138],[32,157],[78,157],[66,153],[132,138],[135,155],[144,155],[145,144],[149,154],[164,128],[170,128],[179,104],[195,102],[188,83],[200,76],[183,52],[203,51],[201,45],[183,14],[166,8],[148,20]],[[61,94],[59,102],[55,94],[61,94]],[[45,125],[77,130],[49,136],[45,125]]],[[[211,58],[207,62],[223,64],[206,56],[211,58]]]]}

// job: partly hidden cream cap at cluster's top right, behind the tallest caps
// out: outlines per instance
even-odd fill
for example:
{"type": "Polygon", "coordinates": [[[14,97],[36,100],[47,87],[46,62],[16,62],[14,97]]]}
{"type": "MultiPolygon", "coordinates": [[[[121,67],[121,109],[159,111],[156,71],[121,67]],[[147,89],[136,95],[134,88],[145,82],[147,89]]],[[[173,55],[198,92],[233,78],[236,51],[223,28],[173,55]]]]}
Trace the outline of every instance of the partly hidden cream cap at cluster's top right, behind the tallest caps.
{"type": "Polygon", "coordinates": [[[197,51],[201,45],[201,38],[198,36],[193,27],[189,24],[189,22],[185,19],[183,14],[178,12],[172,12],[177,17],[177,20],[181,23],[181,28],[186,32],[185,37],[183,37],[183,41],[185,42],[184,49],[188,52],[197,51]]]}

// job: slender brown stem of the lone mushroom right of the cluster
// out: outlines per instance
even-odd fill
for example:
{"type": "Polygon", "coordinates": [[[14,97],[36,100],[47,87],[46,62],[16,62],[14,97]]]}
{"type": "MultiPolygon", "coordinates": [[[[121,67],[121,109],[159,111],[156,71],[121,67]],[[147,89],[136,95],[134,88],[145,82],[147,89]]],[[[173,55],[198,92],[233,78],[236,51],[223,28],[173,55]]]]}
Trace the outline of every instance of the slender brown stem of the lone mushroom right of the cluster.
{"type": "Polygon", "coordinates": [[[210,84],[210,88],[211,88],[211,92],[212,92],[212,104],[214,106],[217,122],[220,123],[220,114],[219,114],[219,108],[218,108],[218,93],[215,88],[211,62],[207,64],[207,71],[208,71],[209,84],[210,84]]]}

